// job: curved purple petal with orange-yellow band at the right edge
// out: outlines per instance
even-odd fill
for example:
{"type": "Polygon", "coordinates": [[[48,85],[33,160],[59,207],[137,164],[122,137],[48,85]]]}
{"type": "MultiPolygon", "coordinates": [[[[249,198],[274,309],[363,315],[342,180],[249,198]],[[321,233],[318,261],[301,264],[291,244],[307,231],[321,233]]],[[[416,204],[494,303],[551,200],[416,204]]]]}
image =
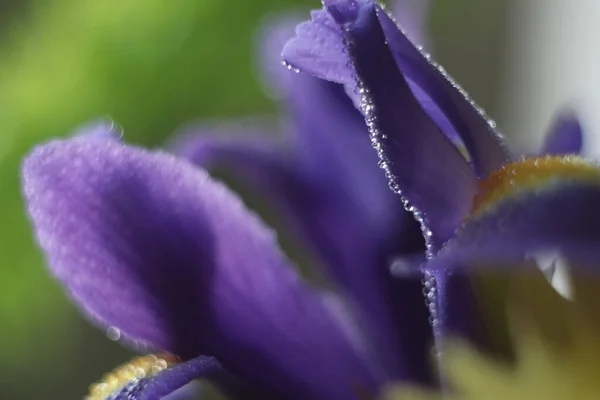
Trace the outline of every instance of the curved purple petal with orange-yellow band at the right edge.
{"type": "MultiPolygon", "coordinates": [[[[472,265],[535,266],[523,261],[549,252],[569,260],[597,260],[600,169],[596,165],[573,157],[526,159],[493,175],[482,190],[473,214],[428,269],[464,273],[472,265]]],[[[441,307],[449,309],[446,323],[463,321],[477,328],[478,320],[483,321],[477,314],[466,319],[452,307],[459,294],[439,297],[441,307]]]]}

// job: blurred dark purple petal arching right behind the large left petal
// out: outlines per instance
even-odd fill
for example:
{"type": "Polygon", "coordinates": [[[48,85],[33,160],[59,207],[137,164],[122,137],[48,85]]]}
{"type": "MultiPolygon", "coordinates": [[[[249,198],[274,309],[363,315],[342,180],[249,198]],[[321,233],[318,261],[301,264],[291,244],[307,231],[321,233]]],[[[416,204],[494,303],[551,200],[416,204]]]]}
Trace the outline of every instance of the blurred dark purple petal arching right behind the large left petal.
{"type": "MultiPolygon", "coordinates": [[[[215,130],[209,129],[209,132],[215,130]]],[[[214,163],[224,166],[270,200],[286,225],[318,252],[336,283],[346,289],[364,311],[364,318],[369,321],[366,325],[370,335],[376,338],[374,342],[380,349],[380,357],[388,359],[388,371],[396,379],[431,381],[426,357],[430,329],[418,271],[412,279],[394,279],[388,269],[394,256],[423,249],[418,225],[399,201],[382,205],[386,207],[381,210],[387,217],[385,224],[383,219],[372,221],[365,210],[372,204],[357,200],[357,194],[344,186],[343,177],[332,176],[331,172],[351,173],[335,161],[330,164],[337,170],[323,174],[318,170],[298,168],[298,164],[289,158],[283,160],[281,152],[277,149],[268,151],[264,141],[227,142],[202,133],[179,145],[180,152],[194,162],[202,166],[215,166],[214,163]],[[415,335],[411,336],[409,331],[415,335]]],[[[333,143],[328,145],[333,152],[344,151],[336,149],[333,143]]],[[[360,159],[355,160],[360,164],[360,159]]],[[[379,171],[373,172],[377,173],[375,182],[382,187],[377,188],[369,182],[363,190],[381,189],[382,195],[389,194],[393,198],[385,181],[377,179],[379,171]]],[[[360,176],[357,179],[360,182],[360,176]]],[[[419,263],[420,260],[412,263],[412,269],[417,270],[419,263]]]]}

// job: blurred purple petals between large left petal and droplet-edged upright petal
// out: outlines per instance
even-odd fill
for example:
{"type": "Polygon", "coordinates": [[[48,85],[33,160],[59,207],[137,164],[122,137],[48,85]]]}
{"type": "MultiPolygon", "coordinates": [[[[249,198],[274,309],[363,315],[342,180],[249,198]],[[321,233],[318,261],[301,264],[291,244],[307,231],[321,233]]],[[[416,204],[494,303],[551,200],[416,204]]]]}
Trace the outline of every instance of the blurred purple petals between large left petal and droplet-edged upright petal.
{"type": "MultiPolygon", "coordinates": [[[[424,4],[398,2],[419,17],[405,19],[421,40],[424,4]]],[[[353,302],[387,376],[431,383],[421,230],[390,191],[343,86],[281,67],[293,27],[289,20],[270,26],[261,49],[269,87],[285,100],[284,133],[292,143],[269,142],[272,127],[242,120],[192,126],[173,147],[203,168],[225,168],[273,205],[353,302]]]]}

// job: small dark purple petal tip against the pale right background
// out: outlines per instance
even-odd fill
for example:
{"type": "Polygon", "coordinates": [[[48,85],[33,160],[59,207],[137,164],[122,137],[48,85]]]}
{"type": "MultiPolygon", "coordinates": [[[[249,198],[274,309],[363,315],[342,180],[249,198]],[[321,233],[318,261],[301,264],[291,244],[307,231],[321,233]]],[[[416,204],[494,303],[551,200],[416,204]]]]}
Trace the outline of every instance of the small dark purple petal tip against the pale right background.
{"type": "Polygon", "coordinates": [[[541,154],[579,154],[583,148],[583,129],[573,113],[559,115],[542,147],[541,154]]]}

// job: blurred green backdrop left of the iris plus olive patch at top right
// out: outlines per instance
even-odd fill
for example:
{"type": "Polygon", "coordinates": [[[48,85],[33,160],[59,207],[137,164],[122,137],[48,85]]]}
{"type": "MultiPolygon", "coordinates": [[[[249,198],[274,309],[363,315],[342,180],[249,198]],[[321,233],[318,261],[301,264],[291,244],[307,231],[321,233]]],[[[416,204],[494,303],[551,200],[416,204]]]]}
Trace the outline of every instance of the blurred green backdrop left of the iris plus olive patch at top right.
{"type": "MultiPolygon", "coordinates": [[[[437,59],[492,114],[506,2],[440,1],[437,59]]],[[[192,120],[275,112],[258,70],[267,16],[317,0],[0,1],[0,398],[81,398],[132,353],[85,321],[51,279],[26,221],[32,146],[110,116],[159,146],[192,120]]]]}

